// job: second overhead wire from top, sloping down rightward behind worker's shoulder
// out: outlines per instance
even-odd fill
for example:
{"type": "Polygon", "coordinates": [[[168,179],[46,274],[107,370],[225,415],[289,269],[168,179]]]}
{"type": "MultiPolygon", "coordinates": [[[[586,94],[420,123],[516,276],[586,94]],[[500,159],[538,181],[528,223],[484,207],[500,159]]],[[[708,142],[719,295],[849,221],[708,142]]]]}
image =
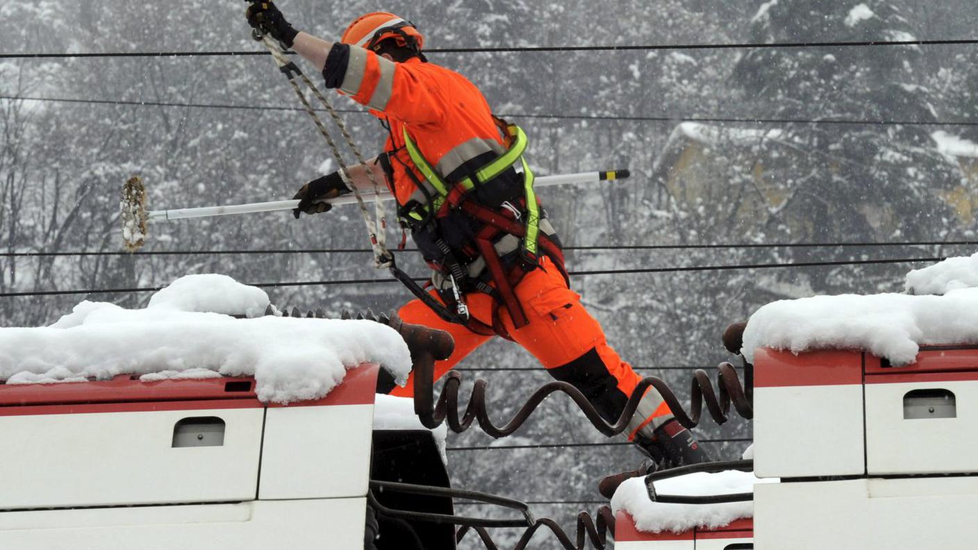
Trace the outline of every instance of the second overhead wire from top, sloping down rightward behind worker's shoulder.
{"type": "MultiPolygon", "coordinates": [[[[10,101],[38,101],[49,103],[69,103],[83,105],[112,105],[126,107],[165,107],[165,108],[186,108],[186,109],[227,109],[235,111],[269,111],[269,112],[290,112],[305,113],[305,110],[298,107],[285,106],[256,106],[256,105],[232,105],[232,104],[210,104],[210,103],[178,103],[178,102],[158,102],[158,101],[121,101],[121,100],[92,100],[77,98],[47,98],[47,97],[17,97],[0,96],[0,100],[10,101]]],[[[314,110],[323,111],[323,110],[314,110]]],[[[359,109],[337,109],[337,113],[352,115],[370,115],[368,112],[359,109]]],[[[865,125],[865,126],[978,126],[978,120],[880,120],[880,119],[857,119],[857,118],[766,118],[753,116],[683,116],[683,115],[548,115],[540,113],[507,113],[502,114],[504,118],[535,118],[549,120],[618,120],[632,122],[711,122],[711,123],[742,123],[742,124],[820,124],[820,125],[865,125]]]]}

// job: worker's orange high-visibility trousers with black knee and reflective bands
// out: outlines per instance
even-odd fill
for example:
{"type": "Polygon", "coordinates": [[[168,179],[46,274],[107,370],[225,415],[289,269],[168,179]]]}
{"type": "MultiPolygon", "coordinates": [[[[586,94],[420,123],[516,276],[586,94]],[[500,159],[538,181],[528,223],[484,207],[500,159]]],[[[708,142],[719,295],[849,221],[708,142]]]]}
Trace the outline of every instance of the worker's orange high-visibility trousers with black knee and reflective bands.
{"type": "MultiPolygon", "coordinates": [[[[550,258],[543,256],[541,267],[527,273],[514,293],[530,322],[516,329],[509,311],[500,307],[500,320],[512,340],[532,353],[556,380],[581,390],[606,421],[616,422],[642,377],[607,344],[598,321],[581,305],[581,297],[567,288],[563,275],[550,258]]],[[[436,293],[433,295],[437,298],[436,293]]],[[[493,308],[499,307],[495,300],[483,293],[468,294],[466,300],[471,316],[492,326],[493,308]]],[[[406,323],[440,329],[455,339],[452,356],[435,363],[436,380],[476,347],[494,338],[444,321],[420,299],[405,304],[398,315],[406,323]]],[[[406,387],[395,388],[391,394],[413,395],[414,375],[406,387]]],[[[672,418],[659,393],[648,389],[626,435],[633,439],[641,431],[650,436],[652,430],[672,418]]]]}

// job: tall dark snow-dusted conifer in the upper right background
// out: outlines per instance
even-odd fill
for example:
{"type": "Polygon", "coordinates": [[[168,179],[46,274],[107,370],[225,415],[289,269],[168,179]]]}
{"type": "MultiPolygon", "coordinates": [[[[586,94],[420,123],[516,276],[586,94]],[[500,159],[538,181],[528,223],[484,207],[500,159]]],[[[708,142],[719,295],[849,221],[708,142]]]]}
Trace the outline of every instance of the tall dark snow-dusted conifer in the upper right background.
{"type": "MultiPolygon", "coordinates": [[[[891,0],[774,0],[751,24],[767,43],[912,40],[912,30],[891,0]]],[[[758,49],[735,79],[774,117],[928,122],[937,114],[919,61],[916,47],[758,49]]],[[[926,126],[798,123],[781,141],[798,155],[783,158],[786,198],[767,228],[822,241],[940,236],[949,212],[938,192],[958,178],[926,126]]]]}

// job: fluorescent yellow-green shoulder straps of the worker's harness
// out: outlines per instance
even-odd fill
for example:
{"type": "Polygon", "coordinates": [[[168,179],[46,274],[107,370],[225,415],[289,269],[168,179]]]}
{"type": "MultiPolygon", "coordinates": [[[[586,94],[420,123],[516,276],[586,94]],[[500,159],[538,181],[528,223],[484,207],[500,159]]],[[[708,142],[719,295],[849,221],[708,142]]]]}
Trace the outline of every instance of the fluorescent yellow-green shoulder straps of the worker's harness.
{"type": "MultiPolygon", "coordinates": [[[[538,254],[537,245],[540,236],[540,206],[537,205],[537,195],[533,190],[533,181],[535,179],[533,171],[523,158],[528,140],[522,128],[515,124],[509,124],[506,130],[512,138],[510,150],[500,156],[499,159],[493,160],[476,170],[475,179],[479,185],[483,185],[499,177],[500,174],[515,165],[516,162],[521,162],[523,167],[523,193],[526,197],[526,210],[528,213],[526,219],[526,235],[523,238],[523,251],[536,256],[538,254]]],[[[404,145],[408,150],[408,155],[411,156],[411,160],[414,161],[418,169],[421,170],[422,175],[440,196],[435,199],[433,204],[428,205],[429,212],[436,212],[448,197],[449,185],[438,175],[431,166],[431,163],[424,158],[414,140],[411,139],[411,135],[408,134],[407,127],[404,128],[404,145]]],[[[461,185],[462,189],[468,193],[475,189],[476,184],[472,181],[471,177],[466,176],[455,185],[461,185]]]]}

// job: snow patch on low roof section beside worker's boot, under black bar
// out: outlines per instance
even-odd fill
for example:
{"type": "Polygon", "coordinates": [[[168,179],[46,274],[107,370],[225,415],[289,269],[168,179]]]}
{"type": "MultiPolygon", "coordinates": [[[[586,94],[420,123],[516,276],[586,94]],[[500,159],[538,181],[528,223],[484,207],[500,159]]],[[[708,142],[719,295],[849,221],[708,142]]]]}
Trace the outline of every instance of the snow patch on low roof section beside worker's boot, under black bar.
{"type": "MultiPolygon", "coordinates": [[[[777,479],[759,480],[751,472],[729,470],[717,474],[697,473],[678,478],[655,481],[655,492],[669,495],[720,495],[753,492],[755,483],[778,482],[777,479]]],[[[645,478],[633,478],[618,486],[611,498],[611,508],[628,512],[635,520],[635,527],[645,532],[684,532],[692,528],[717,528],[735,520],[752,518],[754,503],[730,502],[724,504],[666,504],[648,498],[645,478]]]]}

